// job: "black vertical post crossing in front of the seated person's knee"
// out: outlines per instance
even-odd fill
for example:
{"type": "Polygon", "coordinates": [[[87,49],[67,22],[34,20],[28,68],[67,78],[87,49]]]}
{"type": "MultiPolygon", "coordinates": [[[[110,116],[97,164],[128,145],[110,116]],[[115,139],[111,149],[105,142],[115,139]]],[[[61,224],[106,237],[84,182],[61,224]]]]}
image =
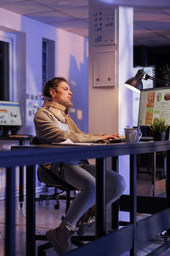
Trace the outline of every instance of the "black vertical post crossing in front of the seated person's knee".
{"type": "Polygon", "coordinates": [[[96,238],[106,233],[105,158],[96,159],[96,238]]]}

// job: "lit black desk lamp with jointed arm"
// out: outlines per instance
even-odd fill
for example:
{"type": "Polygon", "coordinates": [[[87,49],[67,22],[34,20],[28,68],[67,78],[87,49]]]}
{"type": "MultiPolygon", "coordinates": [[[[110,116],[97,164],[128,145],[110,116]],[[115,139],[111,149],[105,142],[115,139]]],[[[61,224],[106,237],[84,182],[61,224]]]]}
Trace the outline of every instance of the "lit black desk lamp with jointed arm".
{"type": "Polygon", "coordinates": [[[149,74],[145,73],[144,68],[139,69],[136,75],[133,78],[128,79],[124,85],[127,86],[127,88],[129,88],[130,90],[140,92],[140,90],[143,89],[142,79],[150,79],[163,86],[170,86],[170,82],[161,79],[156,79],[154,77],[151,77],[149,74]]]}

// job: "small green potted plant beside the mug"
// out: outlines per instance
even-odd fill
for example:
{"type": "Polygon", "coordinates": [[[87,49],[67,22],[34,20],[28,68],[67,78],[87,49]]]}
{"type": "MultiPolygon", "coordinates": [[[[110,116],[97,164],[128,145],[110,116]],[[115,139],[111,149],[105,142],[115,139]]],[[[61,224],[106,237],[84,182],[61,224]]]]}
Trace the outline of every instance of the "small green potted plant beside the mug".
{"type": "Polygon", "coordinates": [[[168,127],[169,125],[166,124],[164,119],[155,118],[153,123],[150,125],[150,130],[152,131],[154,141],[165,140],[168,127]]]}

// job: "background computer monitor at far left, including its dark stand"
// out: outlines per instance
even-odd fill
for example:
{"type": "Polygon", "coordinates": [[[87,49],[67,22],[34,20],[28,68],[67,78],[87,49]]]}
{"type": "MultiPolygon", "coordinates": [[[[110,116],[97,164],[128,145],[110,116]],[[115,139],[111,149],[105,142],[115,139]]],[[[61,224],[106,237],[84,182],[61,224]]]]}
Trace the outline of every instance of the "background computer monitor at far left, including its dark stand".
{"type": "Polygon", "coordinates": [[[8,131],[11,131],[11,134],[16,134],[21,126],[20,102],[0,101],[1,135],[7,136],[8,131]]]}

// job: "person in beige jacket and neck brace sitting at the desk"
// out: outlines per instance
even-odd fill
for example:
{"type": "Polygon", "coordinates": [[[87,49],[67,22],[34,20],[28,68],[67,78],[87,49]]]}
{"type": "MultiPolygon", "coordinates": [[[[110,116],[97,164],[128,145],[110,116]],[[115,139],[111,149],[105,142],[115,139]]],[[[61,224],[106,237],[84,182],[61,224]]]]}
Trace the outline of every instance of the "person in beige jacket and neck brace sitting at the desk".
{"type": "MultiPolygon", "coordinates": [[[[60,143],[70,139],[74,143],[95,143],[98,140],[116,138],[116,134],[94,135],[80,131],[68,115],[71,103],[71,89],[66,79],[54,78],[44,85],[44,104],[38,108],[34,117],[36,136],[40,143],[60,143]]],[[[48,230],[46,237],[57,253],[71,249],[71,235],[77,227],[93,221],[95,214],[95,166],[83,160],[66,161],[47,166],[48,172],[63,179],[80,191],[71,206],[54,230],[48,230]]],[[[121,175],[110,169],[106,170],[106,207],[116,201],[125,189],[121,175]]]]}

